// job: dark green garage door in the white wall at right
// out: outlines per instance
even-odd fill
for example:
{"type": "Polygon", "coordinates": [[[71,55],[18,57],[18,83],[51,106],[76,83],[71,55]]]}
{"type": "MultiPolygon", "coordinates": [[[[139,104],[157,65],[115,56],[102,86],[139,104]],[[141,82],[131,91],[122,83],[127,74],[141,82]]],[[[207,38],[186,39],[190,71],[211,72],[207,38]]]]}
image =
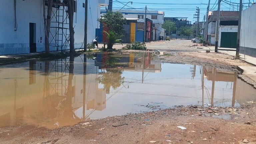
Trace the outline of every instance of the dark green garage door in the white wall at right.
{"type": "Polygon", "coordinates": [[[221,32],[220,47],[236,48],[237,32],[221,32]]]}

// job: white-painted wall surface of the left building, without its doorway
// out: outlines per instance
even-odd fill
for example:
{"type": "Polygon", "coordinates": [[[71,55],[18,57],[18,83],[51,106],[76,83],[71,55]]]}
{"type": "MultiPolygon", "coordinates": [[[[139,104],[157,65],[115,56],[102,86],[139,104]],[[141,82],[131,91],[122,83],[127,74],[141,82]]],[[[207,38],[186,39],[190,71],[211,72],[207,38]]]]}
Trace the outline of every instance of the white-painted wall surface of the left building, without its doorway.
{"type": "MultiPolygon", "coordinates": [[[[84,7],[85,0],[76,0],[77,11],[74,13],[75,48],[83,47],[84,41],[84,7]]],[[[102,1],[102,0],[101,0],[102,1]]],[[[108,3],[108,0],[105,0],[108,3]]],[[[37,52],[44,51],[44,23],[42,0],[17,0],[16,18],[17,31],[14,31],[14,1],[1,1],[0,9],[0,55],[29,53],[29,23],[36,24],[37,52]]],[[[95,29],[99,28],[97,18],[100,17],[100,4],[98,0],[88,1],[88,43],[95,38],[95,29]]],[[[47,8],[47,6],[46,6],[47,8]]],[[[47,10],[46,10],[47,11],[47,10]]],[[[53,8],[56,11],[56,8],[53,8]]],[[[57,26],[52,24],[51,26],[57,26]]],[[[55,29],[51,28],[53,35],[55,29]]],[[[68,32],[69,33],[69,32],[68,32]]],[[[51,34],[49,40],[52,40],[51,34]]],[[[52,42],[54,44],[54,41],[52,42]]],[[[56,47],[50,47],[55,51],[56,47]]]]}

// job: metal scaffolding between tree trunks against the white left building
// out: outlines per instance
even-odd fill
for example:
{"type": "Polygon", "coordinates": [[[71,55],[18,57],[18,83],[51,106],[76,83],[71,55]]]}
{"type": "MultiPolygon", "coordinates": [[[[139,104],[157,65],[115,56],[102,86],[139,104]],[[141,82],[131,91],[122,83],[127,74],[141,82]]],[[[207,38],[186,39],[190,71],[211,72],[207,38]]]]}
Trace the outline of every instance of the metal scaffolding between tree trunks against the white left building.
{"type": "Polygon", "coordinates": [[[68,7],[66,4],[59,2],[53,2],[53,7],[56,9],[52,10],[50,47],[56,47],[57,51],[65,51],[70,46],[68,7]]]}

